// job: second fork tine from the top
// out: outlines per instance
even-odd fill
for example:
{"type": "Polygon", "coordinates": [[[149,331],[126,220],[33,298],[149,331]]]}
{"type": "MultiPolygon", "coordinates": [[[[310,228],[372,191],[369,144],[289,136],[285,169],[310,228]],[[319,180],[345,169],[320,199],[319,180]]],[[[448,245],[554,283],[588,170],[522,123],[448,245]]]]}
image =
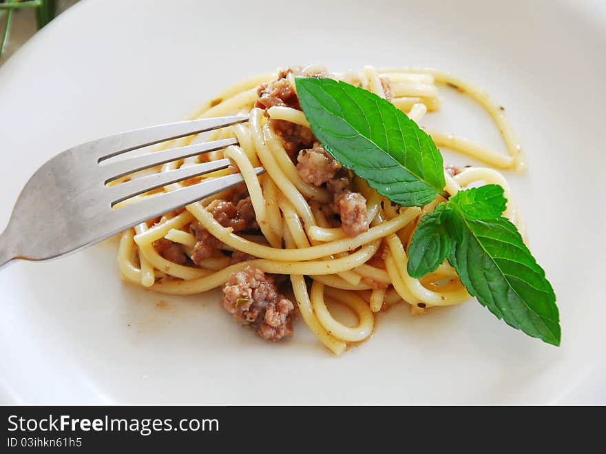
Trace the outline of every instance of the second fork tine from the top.
{"type": "Polygon", "coordinates": [[[104,183],[107,184],[117,180],[121,176],[132,174],[138,170],[154,167],[154,165],[169,163],[170,161],[177,161],[182,158],[189,158],[189,156],[196,156],[196,154],[213,152],[216,149],[222,149],[229,145],[238,145],[238,139],[235,137],[224,138],[220,141],[196,143],[194,145],[187,145],[187,147],[165,149],[161,152],[143,154],[142,156],[136,156],[116,163],[101,164],[100,167],[103,172],[103,178],[105,178],[104,183]]]}

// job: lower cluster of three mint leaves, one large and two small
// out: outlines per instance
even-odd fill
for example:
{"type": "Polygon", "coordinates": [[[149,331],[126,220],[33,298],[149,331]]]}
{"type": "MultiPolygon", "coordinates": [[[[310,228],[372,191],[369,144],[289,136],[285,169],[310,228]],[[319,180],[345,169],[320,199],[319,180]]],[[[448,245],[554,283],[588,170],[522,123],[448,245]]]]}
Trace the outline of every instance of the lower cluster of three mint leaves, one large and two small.
{"type": "Polygon", "coordinates": [[[501,217],[506,203],[501,186],[485,185],[438,205],[439,214],[421,218],[412,235],[408,274],[422,278],[448,256],[470,295],[497,318],[559,345],[556,296],[516,227],[501,217]]]}

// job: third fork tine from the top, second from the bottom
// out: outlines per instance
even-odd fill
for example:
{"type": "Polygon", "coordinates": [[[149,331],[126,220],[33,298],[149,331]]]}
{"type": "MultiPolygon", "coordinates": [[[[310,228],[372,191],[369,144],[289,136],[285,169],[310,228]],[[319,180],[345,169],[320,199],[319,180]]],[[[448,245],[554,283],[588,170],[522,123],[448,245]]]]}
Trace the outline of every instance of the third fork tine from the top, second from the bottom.
{"type": "Polygon", "coordinates": [[[169,172],[142,176],[141,178],[136,178],[136,180],[108,187],[107,192],[112,198],[113,207],[116,203],[120,203],[138,194],[143,194],[143,192],[151,191],[151,189],[171,185],[178,181],[194,178],[194,176],[208,174],[209,172],[213,172],[213,170],[225,169],[229,167],[229,164],[229,159],[218,159],[217,161],[190,165],[189,167],[182,167],[169,172]]]}

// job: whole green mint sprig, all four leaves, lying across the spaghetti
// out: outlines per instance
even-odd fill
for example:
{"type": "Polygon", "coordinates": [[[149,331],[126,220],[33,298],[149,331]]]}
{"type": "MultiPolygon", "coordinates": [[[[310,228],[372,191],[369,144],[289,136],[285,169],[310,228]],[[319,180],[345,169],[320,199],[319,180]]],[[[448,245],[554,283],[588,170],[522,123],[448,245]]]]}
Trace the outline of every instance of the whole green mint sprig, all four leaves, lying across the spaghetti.
{"type": "MultiPolygon", "coordinates": [[[[295,79],[313,134],[344,167],[401,206],[443,192],[442,157],[406,114],[362,88],[332,79],[295,79]]],[[[426,214],[408,248],[408,274],[422,278],[444,260],[481,305],[529,336],[559,345],[556,296],[521,235],[502,217],[499,185],[460,191],[426,214]]]]}

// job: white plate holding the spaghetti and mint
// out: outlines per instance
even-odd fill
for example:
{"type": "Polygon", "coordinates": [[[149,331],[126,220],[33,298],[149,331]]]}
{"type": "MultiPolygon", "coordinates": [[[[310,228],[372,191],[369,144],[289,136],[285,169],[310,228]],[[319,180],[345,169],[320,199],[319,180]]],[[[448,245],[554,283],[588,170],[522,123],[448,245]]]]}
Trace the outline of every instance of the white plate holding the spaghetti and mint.
{"type": "MultiPolygon", "coordinates": [[[[123,284],[109,241],[1,271],[6,401],[606,402],[604,6],[345,4],[77,4],[0,68],[1,223],[56,152],[183,118],[245,76],[311,62],[435,66],[490,90],[525,145],[530,172],[508,177],[556,289],[562,347],[510,329],[476,302],[423,318],[405,307],[381,314],[375,336],[341,358],[302,322],[292,340],[270,344],[236,327],[216,294],[169,298],[123,284]]],[[[481,110],[446,101],[435,123],[498,143],[481,110]]]]}

